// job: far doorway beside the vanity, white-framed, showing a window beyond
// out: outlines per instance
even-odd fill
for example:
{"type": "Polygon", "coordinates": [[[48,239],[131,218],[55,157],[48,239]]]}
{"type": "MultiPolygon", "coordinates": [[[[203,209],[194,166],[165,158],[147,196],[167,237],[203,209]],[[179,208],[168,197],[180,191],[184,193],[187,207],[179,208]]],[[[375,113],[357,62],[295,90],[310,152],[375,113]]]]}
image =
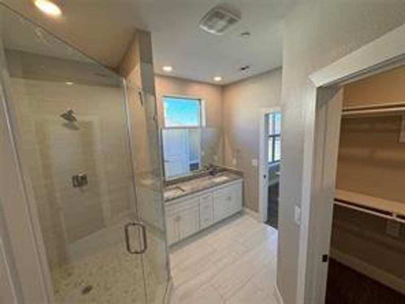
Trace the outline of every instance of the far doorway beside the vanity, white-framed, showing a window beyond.
{"type": "Polygon", "coordinates": [[[263,222],[274,229],[278,227],[281,117],[280,108],[264,109],[260,113],[260,213],[263,222]]]}

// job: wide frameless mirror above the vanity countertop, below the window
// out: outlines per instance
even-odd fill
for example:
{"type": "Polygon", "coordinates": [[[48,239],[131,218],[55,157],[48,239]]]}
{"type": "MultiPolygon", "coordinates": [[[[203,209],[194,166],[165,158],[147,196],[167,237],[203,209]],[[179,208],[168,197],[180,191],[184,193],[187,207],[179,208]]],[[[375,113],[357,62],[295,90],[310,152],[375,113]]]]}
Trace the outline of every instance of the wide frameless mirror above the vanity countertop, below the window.
{"type": "Polygon", "coordinates": [[[222,165],[218,128],[166,128],[162,139],[166,179],[198,173],[211,164],[222,165]]]}

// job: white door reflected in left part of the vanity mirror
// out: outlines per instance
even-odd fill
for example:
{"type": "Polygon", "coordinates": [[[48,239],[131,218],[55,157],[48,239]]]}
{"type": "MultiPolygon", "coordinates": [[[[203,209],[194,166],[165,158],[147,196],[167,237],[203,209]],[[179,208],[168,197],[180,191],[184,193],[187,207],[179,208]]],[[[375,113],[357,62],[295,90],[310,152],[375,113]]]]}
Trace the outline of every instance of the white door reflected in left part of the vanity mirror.
{"type": "Polygon", "coordinates": [[[189,171],[188,130],[162,130],[163,158],[166,177],[184,175],[189,171]]]}

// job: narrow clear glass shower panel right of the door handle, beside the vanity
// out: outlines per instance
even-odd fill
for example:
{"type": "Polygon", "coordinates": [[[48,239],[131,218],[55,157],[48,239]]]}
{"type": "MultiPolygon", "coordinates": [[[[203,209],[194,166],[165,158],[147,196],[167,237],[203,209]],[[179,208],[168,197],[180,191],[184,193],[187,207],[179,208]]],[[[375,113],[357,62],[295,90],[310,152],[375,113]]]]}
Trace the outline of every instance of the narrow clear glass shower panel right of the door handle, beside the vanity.
{"type": "Polygon", "coordinates": [[[163,303],[169,282],[163,166],[155,97],[127,84],[128,113],[139,220],[146,227],[143,254],[148,303],[163,303]]]}

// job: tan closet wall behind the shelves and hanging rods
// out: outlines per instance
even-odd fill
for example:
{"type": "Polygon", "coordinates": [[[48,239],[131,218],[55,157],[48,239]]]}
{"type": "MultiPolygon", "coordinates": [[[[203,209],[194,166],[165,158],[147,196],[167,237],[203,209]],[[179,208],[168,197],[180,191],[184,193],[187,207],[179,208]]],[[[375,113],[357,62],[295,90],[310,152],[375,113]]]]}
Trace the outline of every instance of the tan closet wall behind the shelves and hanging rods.
{"type": "MultiPolygon", "coordinates": [[[[344,108],[405,105],[405,67],[344,88],[344,108]]],[[[344,117],[338,157],[338,189],[402,202],[405,209],[405,141],[399,142],[405,112],[344,117]]],[[[402,128],[403,129],[403,128],[402,128]]],[[[403,131],[405,133],[405,131],[403,131]]],[[[387,233],[387,220],[336,207],[331,255],[349,267],[405,293],[405,228],[387,233]]]]}

